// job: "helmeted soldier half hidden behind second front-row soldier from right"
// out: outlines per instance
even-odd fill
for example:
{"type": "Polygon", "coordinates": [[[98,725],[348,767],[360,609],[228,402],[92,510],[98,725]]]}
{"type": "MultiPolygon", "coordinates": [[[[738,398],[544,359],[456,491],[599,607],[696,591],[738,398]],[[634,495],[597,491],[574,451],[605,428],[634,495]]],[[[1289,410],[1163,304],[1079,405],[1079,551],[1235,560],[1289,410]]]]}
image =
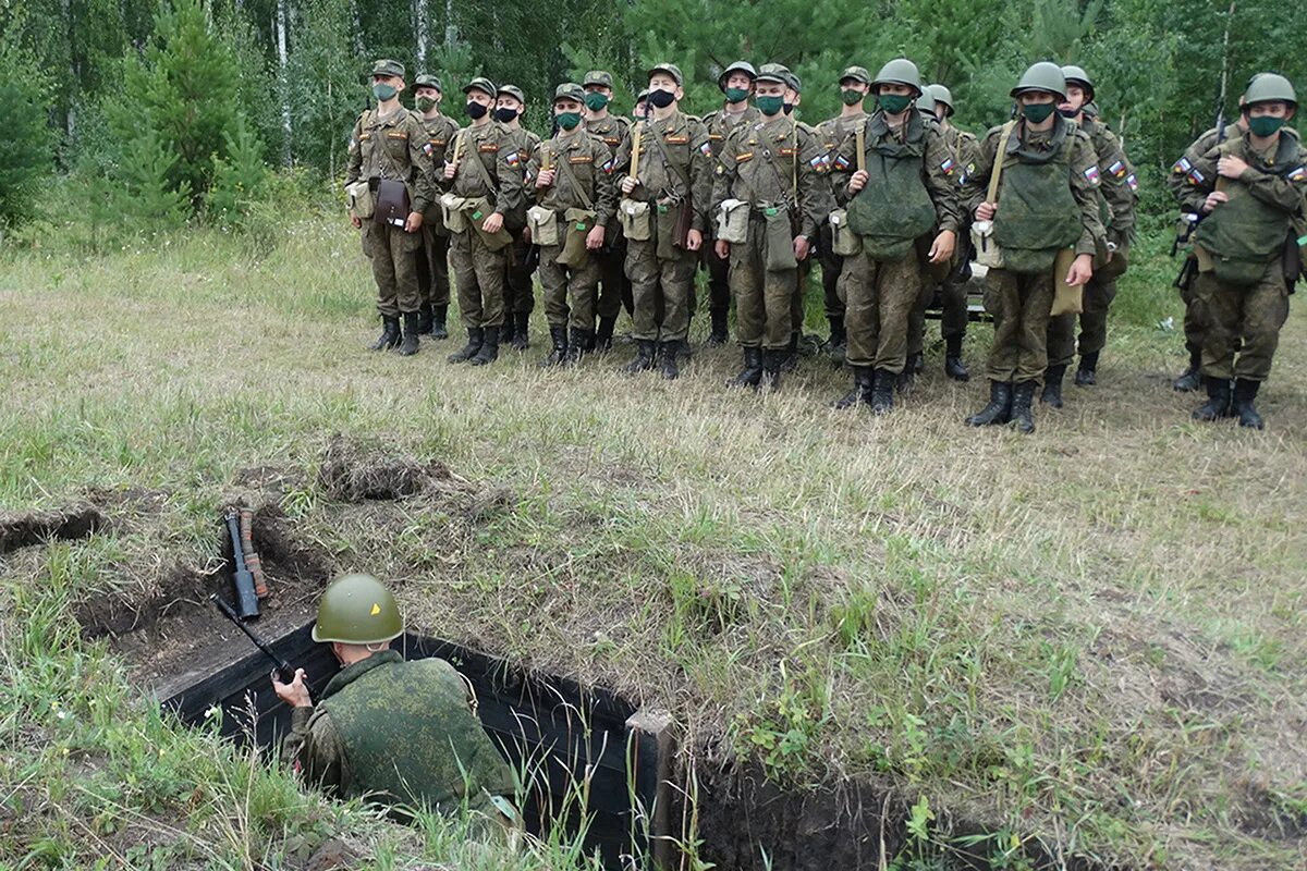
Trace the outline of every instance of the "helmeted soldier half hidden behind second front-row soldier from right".
{"type": "MultiPolygon", "coordinates": [[[[1098,155],[1099,217],[1107,229],[1107,261],[1098,262],[1094,277],[1085,285],[1084,313],[1080,315],[1080,367],[1077,387],[1093,385],[1098,377],[1098,356],[1107,342],[1107,311],[1116,298],[1116,278],[1125,272],[1131,242],[1134,239],[1134,189],[1138,183],[1116,135],[1098,118],[1084,111],[1094,99],[1094,84],[1080,67],[1063,67],[1067,99],[1057,111],[1080,125],[1098,155]]],[[[1048,371],[1040,402],[1063,406],[1061,383],[1076,356],[1076,315],[1068,312],[1048,321],[1048,371]]]]}

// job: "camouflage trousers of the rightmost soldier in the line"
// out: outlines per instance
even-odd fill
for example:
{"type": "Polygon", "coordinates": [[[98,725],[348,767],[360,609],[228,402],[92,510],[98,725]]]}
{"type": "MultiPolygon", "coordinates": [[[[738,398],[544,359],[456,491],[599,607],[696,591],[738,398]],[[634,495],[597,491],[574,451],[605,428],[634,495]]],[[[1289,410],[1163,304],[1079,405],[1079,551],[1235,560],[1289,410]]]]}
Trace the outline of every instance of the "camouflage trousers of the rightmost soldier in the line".
{"type": "Polygon", "coordinates": [[[1280,345],[1280,328],[1289,317],[1289,286],[1280,259],[1266,264],[1261,278],[1251,285],[1231,285],[1210,272],[1199,273],[1193,291],[1206,324],[1202,373],[1265,381],[1280,345]]]}

